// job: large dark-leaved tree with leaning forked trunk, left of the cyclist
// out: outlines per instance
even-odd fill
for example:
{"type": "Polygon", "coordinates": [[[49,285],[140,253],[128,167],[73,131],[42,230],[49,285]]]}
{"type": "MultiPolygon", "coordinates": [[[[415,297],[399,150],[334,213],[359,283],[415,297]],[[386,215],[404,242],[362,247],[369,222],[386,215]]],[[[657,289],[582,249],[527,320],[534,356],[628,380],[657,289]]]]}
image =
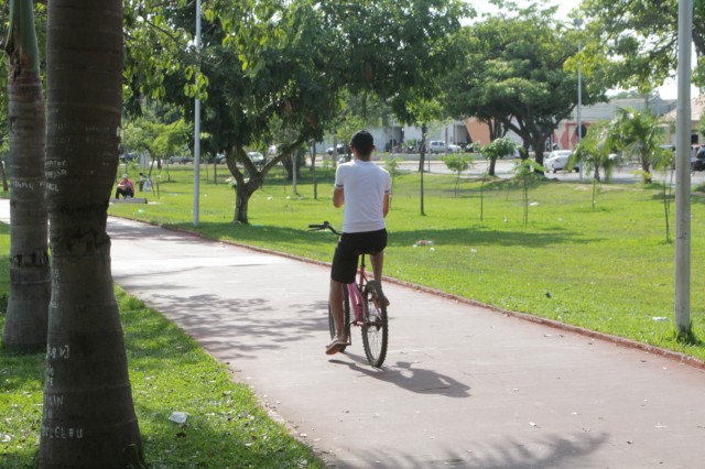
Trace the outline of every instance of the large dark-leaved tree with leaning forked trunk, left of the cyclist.
{"type": "Polygon", "coordinates": [[[205,6],[196,54],[187,45],[192,6],[129,3],[131,102],[144,94],[166,98],[191,120],[191,99],[202,98],[202,129],[226,150],[240,222],[248,222],[249,198],[265,174],[304,142],[322,140],[344,90],[388,100],[443,73],[453,55],[443,45],[466,11],[459,0],[219,0],[205,6]],[[272,133],[276,119],[291,130],[285,141],[272,133]],[[251,164],[246,149],[273,142],[279,153],[261,168],[251,164]]]}

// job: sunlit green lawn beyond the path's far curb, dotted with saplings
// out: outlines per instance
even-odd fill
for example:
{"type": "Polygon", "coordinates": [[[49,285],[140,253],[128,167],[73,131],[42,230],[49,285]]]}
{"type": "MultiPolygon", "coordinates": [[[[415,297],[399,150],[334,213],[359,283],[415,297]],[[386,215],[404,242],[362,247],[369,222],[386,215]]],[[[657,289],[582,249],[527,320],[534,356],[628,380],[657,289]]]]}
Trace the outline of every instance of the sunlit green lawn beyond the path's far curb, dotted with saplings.
{"type": "MultiPolygon", "coordinates": [[[[308,222],[339,225],[330,203],[333,170],[318,168],[318,197],[302,170],[299,195],[275,172],[249,207],[250,225],[232,223],[235,192],[200,183],[199,226],[193,223],[193,170],[171,172],[150,205],[115,205],[110,214],[198,231],[203,236],[329,261],[335,237],[307,232],[308,222]]],[[[220,175],[223,178],[223,174],[220,175]]],[[[692,310],[695,340],[674,334],[675,244],[665,242],[662,188],[605,184],[593,209],[592,185],[542,181],[529,188],[523,225],[519,186],[426,174],[420,215],[419,174],[395,179],[388,217],[386,274],[500,308],[547,317],[705,359],[705,199],[692,204],[692,310]],[[420,239],[429,247],[413,244],[420,239]],[[666,320],[661,318],[665,317],[666,320]]],[[[674,238],[671,208],[671,238],[674,238]]],[[[403,305],[394,305],[394,308],[403,305]]]]}

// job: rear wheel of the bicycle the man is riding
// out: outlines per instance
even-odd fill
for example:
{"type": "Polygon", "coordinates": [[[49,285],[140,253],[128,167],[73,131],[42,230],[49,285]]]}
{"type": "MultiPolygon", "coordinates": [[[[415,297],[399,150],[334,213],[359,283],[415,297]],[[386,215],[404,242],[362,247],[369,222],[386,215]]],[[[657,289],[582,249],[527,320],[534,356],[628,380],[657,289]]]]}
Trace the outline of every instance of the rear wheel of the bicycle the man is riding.
{"type": "Polygon", "coordinates": [[[362,325],[365,355],[372,367],[380,368],[387,357],[387,342],[389,340],[387,303],[382,287],[376,281],[369,281],[365,285],[364,295],[367,306],[367,320],[362,325]]]}

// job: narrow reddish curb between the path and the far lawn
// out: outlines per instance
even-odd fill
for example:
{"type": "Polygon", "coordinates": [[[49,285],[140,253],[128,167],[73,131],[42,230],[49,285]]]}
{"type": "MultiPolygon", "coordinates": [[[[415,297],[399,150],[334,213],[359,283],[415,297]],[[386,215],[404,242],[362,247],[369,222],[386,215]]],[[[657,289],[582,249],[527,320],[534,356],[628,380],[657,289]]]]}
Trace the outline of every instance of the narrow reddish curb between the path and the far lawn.
{"type": "MultiPolygon", "coordinates": [[[[292,259],[292,260],[295,260],[295,261],[306,262],[306,263],[315,264],[315,265],[322,265],[322,266],[328,266],[328,268],[330,266],[329,262],[316,261],[314,259],[302,258],[300,255],[289,254],[286,252],[273,251],[271,249],[260,248],[260,247],[257,247],[257,246],[243,244],[243,243],[240,243],[240,242],[237,242],[237,241],[205,238],[200,233],[188,231],[188,230],[186,230],[184,228],[177,228],[177,227],[170,226],[170,225],[160,225],[160,223],[154,223],[154,222],[151,222],[151,221],[137,220],[137,219],[129,218],[129,217],[117,217],[117,216],[113,216],[113,215],[111,215],[111,217],[123,218],[123,219],[131,220],[131,221],[139,221],[139,222],[151,225],[151,226],[154,226],[154,227],[164,228],[164,229],[167,229],[167,230],[171,230],[171,231],[177,231],[177,232],[181,232],[181,233],[184,233],[184,234],[189,234],[189,236],[193,236],[193,237],[196,237],[196,238],[200,238],[200,239],[206,240],[206,241],[223,242],[225,244],[230,244],[230,246],[235,246],[235,247],[238,247],[238,248],[248,249],[250,251],[256,251],[256,252],[262,252],[262,253],[265,253],[265,254],[278,255],[280,258],[292,259]]],[[[597,339],[597,340],[605,341],[605,342],[608,342],[608,343],[614,343],[614,345],[619,346],[619,347],[626,347],[626,348],[631,348],[631,349],[636,349],[636,350],[641,350],[641,351],[644,351],[647,353],[653,353],[653,355],[666,358],[669,360],[677,361],[681,364],[687,364],[690,367],[694,367],[694,368],[697,368],[699,370],[705,371],[705,361],[699,360],[699,359],[697,359],[695,357],[687,356],[687,355],[682,353],[682,352],[676,352],[676,351],[673,351],[673,350],[668,350],[668,349],[664,349],[664,348],[661,348],[661,347],[657,347],[657,346],[652,346],[652,345],[649,345],[649,343],[638,342],[636,340],[627,339],[627,338],[623,338],[623,337],[612,336],[612,335],[609,335],[609,334],[586,329],[584,327],[574,326],[574,325],[571,325],[571,324],[560,323],[557,320],[549,319],[549,318],[545,318],[545,317],[533,316],[533,315],[530,315],[530,314],[527,314],[527,313],[518,313],[518,312],[512,312],[512,310],[509,310],[509,309],[503,309],[503,308],[500,308],[498,306],[492,306],[492,305],[488,305],[488,304],[478,302],[476,299],[465,298],[465,297],[462,297],[462,296],[458,296],[458,295],[454,295],[454,294],[451,294],[451,293],[447,293],[447,292],[443,292],[441,290],[431,288],[429,286],[423,286],[423,285],[417,285],[415,283],[406,282],[406,281],[394,279],[394,277],[390,277],[390,276],[384,276],[383,279],[384,279],[384,281],[387,281],[389,283],[392,283],[392,284],[395,284],[395,285],[399,285],[399,286],[404,286],[404,287],[408,287],[408,288],[411,288],[411,290],[415,290],[417,292],[427,293],[427,294],[431,294],[431,295],[434,295],[434,296],[438,296],[438,297],[446,298],[446,299],[452,299],[452,301],[455,301],[455,302],[458,302],[458,303],[463,303],[463,304],[466,304],[466,305],[470,305],[470,306],[477,306],[477,307],[480,307],[480,308],[484,308],[484,309],[488,309],[488,310],[490,310],[492,313],[500,313],[500,314],[502,314],[505,316],[508,316],[508,317],[514,317],[517,319],[527,320],[529,323],[534,323],[534,324],[539,324],[539,325],[542,325],[542,326],[547,326],[547,327],[551,327],[553,329],[558,329],[558,330],[564,330],[566,332],[577,334],[577,335],[581,335],[581,336],[584,336],[584,337],[589,337],[592,339],[597,339]]]]}

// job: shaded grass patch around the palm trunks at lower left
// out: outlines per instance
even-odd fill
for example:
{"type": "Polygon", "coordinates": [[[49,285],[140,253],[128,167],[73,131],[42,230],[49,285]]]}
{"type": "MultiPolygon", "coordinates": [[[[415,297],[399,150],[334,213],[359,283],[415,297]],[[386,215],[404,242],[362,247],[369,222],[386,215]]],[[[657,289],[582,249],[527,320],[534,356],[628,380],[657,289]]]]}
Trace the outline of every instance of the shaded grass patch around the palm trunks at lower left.
{"type": "MultiPolygon", "coordinates": [[[[9,284],[10,229],[0,223],[0,329],[9,284]]],[[[273,422],[250,389],[183,330],[116,291],[145,459],[152,468],[322,468],[312,449],[273,422]],[[185,424],[169,421],[186,412],[185,424]]],[[[36,467],[44,353],[0,348],[0,467],[36,467]]]]}

